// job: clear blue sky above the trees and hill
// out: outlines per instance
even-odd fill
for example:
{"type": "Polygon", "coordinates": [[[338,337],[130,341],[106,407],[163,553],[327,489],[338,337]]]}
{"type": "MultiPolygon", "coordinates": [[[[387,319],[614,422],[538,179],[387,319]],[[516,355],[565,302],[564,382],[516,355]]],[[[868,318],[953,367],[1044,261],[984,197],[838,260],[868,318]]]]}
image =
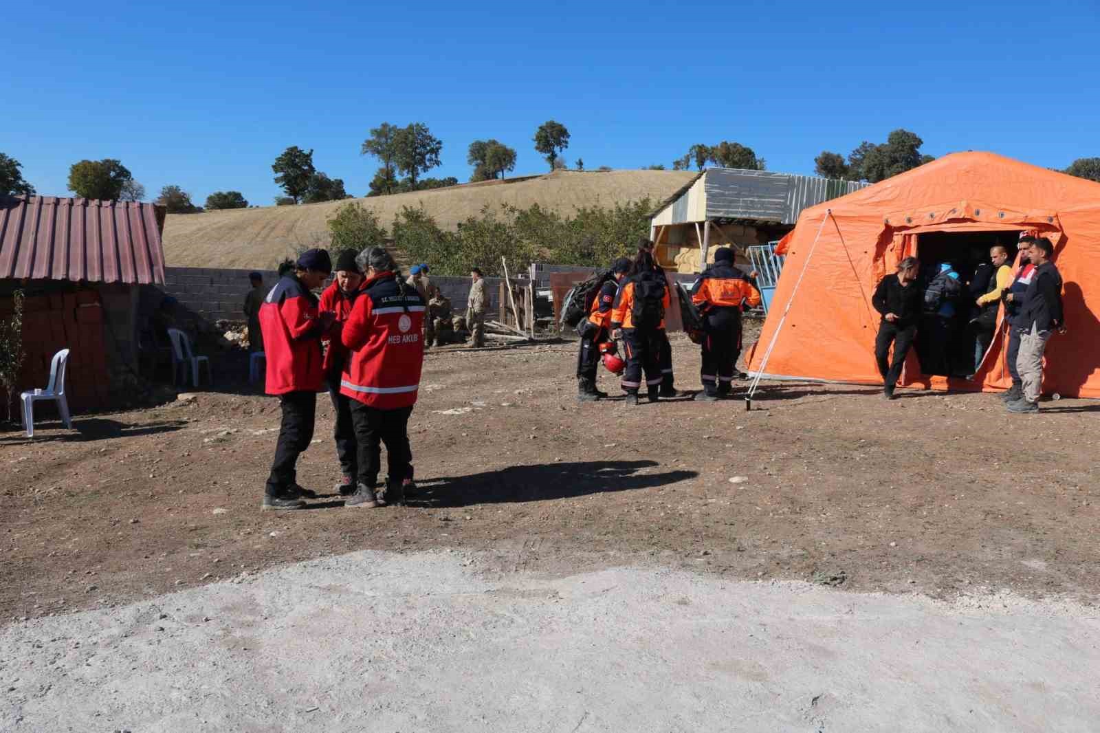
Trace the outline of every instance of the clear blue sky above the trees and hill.
{"type": "Polygon", "coordinates": [[[13,2],[3,12],[0,152],[47,195],[68,166],[117,157],[150,197],[235,189],[271,205],[288,145],[362,196],[372,127],[426,122],[441,168],[466,146],[571,134],[585,167],[671,167],[740,142],[812,173],[899,127],[943,155],[1050,167],[1100,155],[1100,2],[557,3],[13,2]],[[163,7],[162,7],[163,6],[163,7]]]}

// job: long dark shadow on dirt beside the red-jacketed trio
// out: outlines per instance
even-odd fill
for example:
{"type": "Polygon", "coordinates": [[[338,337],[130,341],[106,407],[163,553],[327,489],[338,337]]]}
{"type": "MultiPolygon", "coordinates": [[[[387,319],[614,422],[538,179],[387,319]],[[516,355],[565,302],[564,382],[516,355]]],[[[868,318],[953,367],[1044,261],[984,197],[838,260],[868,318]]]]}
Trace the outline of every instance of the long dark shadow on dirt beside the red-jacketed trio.
{"type": "Polygon", "coordinates": [[[538,502],[587,494],[652,489],[698,475],[697,471],[651,472],[656,461],[584,461],[510,466],[462,477],[418,479],[411,506],[447,507],[538,502]]]}

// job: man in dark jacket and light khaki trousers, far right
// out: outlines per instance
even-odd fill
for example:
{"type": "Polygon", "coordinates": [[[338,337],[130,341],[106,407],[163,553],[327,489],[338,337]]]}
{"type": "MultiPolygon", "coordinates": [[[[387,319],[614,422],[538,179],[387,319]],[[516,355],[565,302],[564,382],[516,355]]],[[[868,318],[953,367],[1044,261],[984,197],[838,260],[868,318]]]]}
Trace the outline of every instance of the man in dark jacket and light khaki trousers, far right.
{"type": "Polygon", "coordinates": [[[1023,396],[1009,403],[1009,412],[1037,413],[1038,395],[1043,386],[1043,352],[1047,339],[1057,329],[1066,332],[1062,313],[1062,273],[1050,262],[1054,245],[1046,238],[1038,238],[1032,247],[1031,260],[1035,265],[1031,284],[1024,293],[1018,320],[1020,355],[1016,371],[1023,381],[1023,396]]]}

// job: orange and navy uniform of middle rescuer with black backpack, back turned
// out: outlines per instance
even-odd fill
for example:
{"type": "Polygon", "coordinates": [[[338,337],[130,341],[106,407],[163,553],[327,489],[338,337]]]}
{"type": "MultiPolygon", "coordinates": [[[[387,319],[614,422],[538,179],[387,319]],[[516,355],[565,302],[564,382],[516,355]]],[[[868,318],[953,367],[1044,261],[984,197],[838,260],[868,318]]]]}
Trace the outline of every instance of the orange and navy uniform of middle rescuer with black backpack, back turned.
{"type": "Polygon", "coordinates": [[[634,275],[625,281],[618,289],[615,304],[612,306],[612,329],[623,329],[623,344],[626,353],[626,369],[623,371],[623,391],[627,394],[637,395],[641,386],[642,372],[646,374],[646,386],[649,391],[649,398],[653,401],[658,396],[661,387],[660,366],[660,333],[664,331],[663,313],[668,313],[670,305],[669,288],[664,277],[653,272],[645,272],[634,275]],[[635,322],[635,305],[638,302],[636,291],[639,288],[649,289],[660,287],[663,291],[661,297],[662,316],[656,326],[642,327],[635,322]]]}

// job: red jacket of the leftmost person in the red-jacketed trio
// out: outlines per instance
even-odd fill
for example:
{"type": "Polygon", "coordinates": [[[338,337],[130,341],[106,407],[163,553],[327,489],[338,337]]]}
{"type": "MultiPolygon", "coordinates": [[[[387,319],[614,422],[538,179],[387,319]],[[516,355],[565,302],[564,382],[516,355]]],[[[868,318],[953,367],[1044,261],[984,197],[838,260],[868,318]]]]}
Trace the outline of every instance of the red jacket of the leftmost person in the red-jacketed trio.
{"type": "Polygon", "coordinates": [[[321,325],[317,297],[301,281],[287,275],[275,283],[260,306],[267,362],[267,394],[320,392],[321,325]]]}

